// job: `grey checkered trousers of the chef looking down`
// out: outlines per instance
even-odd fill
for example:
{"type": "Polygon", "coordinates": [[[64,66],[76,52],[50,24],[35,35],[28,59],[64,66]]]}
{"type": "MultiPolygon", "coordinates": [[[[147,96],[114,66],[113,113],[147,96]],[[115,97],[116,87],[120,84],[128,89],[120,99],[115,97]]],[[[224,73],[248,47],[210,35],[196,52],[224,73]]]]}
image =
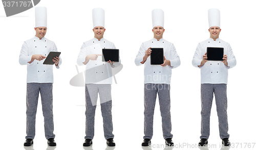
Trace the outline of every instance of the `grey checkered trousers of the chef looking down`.
{"type": "Polygon", "coordinates": [[[46,139],[55,138],[53,134],[53,98],[52,83],[27,83],[27,136],[26,139],[35,137],[35,116],[39,92],[41,94],[42,113],[45,121],[46,139]]]}

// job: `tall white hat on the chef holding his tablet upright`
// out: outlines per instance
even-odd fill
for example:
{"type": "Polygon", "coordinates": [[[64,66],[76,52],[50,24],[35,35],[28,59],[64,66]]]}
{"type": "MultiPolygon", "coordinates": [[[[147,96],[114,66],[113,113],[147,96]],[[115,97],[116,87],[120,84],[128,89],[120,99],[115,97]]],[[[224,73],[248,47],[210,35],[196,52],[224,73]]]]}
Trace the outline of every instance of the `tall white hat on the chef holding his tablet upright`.
{"type": "Polygon", "coordinates": [[[162,9],[153,9],[152,10],[152,24],[153,28],[156,26],[163,27],[164,23],[164,13],[162,9]]]}

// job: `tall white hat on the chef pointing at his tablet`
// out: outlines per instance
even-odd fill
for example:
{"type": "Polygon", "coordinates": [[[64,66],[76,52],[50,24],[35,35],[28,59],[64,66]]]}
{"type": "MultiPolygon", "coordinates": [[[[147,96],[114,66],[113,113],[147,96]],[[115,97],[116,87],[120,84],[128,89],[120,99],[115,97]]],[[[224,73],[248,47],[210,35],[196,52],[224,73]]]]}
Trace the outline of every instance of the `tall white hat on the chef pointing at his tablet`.
{"type": "Polygon", "coordinates": [[[102,8],[93,9],[93,28],[101,26],[104,28],[105,24],[105,13],[102,8]]]}

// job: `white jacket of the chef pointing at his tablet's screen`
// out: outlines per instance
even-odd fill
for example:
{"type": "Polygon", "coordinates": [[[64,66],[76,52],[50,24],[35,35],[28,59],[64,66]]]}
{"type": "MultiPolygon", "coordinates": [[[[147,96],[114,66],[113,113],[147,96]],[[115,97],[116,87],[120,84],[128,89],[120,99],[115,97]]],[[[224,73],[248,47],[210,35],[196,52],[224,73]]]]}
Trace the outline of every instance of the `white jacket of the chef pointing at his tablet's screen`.
{"type": "MultiPolygon", "coordinates": [[[[110,42],[104,38],[98,40],[93,38],[89,41],[83,42],[80,53],[78,54],[77,64],[79,66],[84,65],[86,56],[90,54],[101,54],[102,49],[116,49],[113,42],[110,42]]],[[[115,62],[114,66],[120,65],[119,62],[115,62]]],[[[102,56],[98,56],[97,60],[89,60],[86,64],[86,84],[112,84],[112,67],[108,62],[102,62],[102,56]],[[103,80],[101,80],[103,78],[103,80]]]]}

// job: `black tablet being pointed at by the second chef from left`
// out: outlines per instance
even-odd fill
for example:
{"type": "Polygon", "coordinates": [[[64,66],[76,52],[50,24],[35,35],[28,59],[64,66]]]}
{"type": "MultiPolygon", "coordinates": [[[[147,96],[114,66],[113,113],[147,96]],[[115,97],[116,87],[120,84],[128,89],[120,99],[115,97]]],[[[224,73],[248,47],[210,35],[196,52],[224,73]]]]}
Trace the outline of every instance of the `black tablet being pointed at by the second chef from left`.
{"type": "Polygon", "coordinates": [[[119,49],[102,49],[102,61],[119,62],[119,49]]]}

